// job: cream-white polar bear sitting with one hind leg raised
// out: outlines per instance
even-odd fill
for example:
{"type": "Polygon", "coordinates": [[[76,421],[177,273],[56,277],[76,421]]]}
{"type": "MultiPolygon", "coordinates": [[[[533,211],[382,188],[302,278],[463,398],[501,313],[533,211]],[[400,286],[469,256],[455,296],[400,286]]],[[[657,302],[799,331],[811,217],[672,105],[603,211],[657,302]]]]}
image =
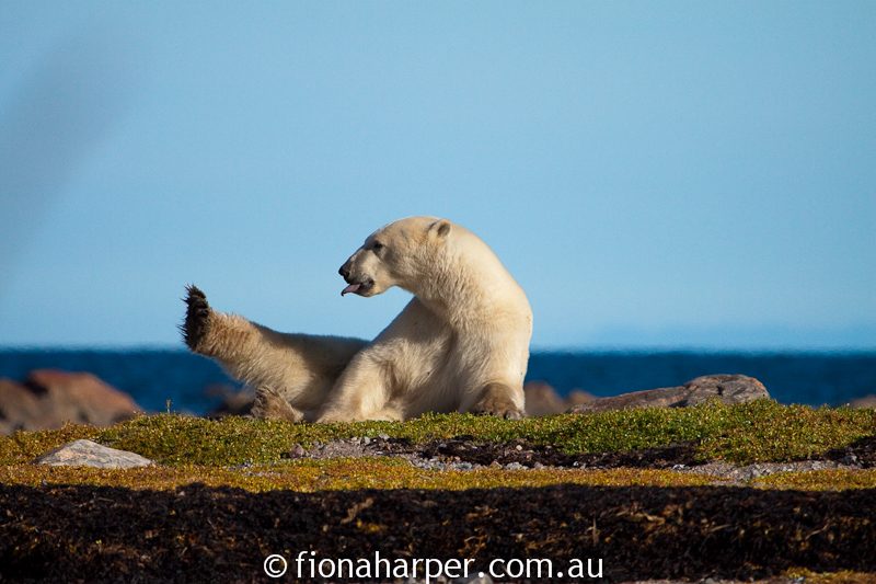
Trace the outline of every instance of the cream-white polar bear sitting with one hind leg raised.
{"type": "Polygon", "coordinates": [[[284,334],[211,309],[187,288],[188,347],[255,390],[253,414],[292,421],[407,420],[424,412],[523,414],[532,311],[477,236],[447,219],[389,224],[339,270],[342,296],[414,295],[373,341],[284,334]]]}

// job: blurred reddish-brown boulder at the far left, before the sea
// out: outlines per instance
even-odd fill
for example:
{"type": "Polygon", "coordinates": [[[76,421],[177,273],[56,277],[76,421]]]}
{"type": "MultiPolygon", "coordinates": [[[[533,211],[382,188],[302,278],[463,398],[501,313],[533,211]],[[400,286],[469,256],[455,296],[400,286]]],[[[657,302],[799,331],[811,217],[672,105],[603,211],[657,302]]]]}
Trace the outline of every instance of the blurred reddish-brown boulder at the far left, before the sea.
{"type": "Polygon", "coordinates": [[[0,380],[0,434],[66,422],[108,426],[140,412],[128,394],[87,373],[37,369],[24,383],[0,380]]]}

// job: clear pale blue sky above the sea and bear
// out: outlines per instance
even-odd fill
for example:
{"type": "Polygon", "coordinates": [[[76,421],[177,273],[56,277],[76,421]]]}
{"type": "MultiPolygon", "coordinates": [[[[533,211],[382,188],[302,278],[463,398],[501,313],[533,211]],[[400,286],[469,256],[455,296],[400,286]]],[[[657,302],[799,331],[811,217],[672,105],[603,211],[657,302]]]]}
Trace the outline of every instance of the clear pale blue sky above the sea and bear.
{"type": "Polygon", "coordinates": [[[439,215],[533,345],[876,347],[874,2],[0,9],[0,346],[182,346],[183,286],[285,331],[439,215]]]}

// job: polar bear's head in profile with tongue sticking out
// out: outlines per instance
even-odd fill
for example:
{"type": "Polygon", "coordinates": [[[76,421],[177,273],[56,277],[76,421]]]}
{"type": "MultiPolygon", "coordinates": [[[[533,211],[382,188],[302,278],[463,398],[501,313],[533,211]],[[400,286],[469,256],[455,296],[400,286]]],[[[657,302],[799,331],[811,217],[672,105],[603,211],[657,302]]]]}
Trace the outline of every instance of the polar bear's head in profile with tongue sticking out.
{"type": "Polygon", "coordinates": [[[341,295],[369,297],[393,286],[417,294],[440,264],[451,230],[450,221],[435,217],[408,217],[381,227],[341,266],[348,284],[341,295]]]}

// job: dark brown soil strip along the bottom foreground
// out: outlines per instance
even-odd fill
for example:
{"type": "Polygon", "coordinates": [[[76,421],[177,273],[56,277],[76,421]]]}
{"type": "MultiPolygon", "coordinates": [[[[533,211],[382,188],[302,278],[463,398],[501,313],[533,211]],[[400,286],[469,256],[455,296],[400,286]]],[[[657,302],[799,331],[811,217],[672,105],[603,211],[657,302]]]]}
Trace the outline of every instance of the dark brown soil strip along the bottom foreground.
{"type": "MultiPolygon", "coordinates": [[[[602,558],[608,580],[876,572],[876,490],[588,488],[250,493],[0,485],[0,581],[264,582],[292,559],[602,558]]],[[[297,580],[295,564],[285,581],[297,580]]]]}

